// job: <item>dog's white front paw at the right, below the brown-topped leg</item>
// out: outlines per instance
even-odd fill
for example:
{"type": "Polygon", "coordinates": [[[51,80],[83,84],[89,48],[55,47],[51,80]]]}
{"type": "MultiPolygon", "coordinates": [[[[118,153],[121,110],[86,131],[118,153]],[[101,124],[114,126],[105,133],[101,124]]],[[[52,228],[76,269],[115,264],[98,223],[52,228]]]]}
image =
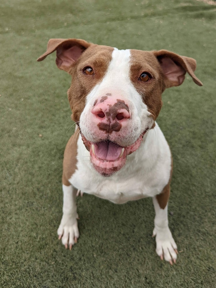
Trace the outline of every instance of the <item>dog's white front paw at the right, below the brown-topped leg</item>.
{"type": "Polygon", "coordinates": [[[173,239],[172,233],[169,228],[154,228],[153,235],[156,235],[156,253],[160,259],[165,259],[171,265],[176,262],[177,258],[177,245],[173,239]]]}

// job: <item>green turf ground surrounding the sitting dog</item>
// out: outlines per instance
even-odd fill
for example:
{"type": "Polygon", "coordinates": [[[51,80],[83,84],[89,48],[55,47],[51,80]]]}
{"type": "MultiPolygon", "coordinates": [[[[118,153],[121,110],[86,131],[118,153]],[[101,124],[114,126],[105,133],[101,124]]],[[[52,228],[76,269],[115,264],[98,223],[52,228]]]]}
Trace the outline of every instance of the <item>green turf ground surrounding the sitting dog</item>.
{"type": "Polygon", "coordinates": [[[215,5],[195,0],[1,1],[0,287],[216,287],[215,24],[215,5]],[[73,128],[67,132],[70,76],[54,55],[36,62],[50,38],[197,60],[204,86],[186,77],[166,90],[158,118],[174,160],[169,222],[182,250],[177,265],[156,255],[151,199],[115,205],[84,195],[78,244],[67,251],[57,239],[73,128]]]}

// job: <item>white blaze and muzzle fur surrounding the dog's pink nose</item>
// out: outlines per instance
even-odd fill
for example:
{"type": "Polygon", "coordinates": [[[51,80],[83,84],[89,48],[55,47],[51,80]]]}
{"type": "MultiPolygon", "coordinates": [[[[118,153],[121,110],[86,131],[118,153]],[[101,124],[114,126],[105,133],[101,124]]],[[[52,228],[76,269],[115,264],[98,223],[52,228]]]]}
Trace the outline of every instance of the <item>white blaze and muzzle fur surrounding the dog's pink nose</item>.
{"type": "Polygon", "coordinates": [[[92,125],[91,109],[94,102],[107,93],[125,101],[132,114],[126,127],[122,127],[119,132],[111,133],[111,141],[115,142],[115,138],[118,137],[118,142],[119,138],[122,138],[122,146],[131,145],[131,139],[135,141],[145,129],[150,128],[153,124],[152,118],[149,117],[151,114],[143,103],[142,96],[134,88],[130,79],[130,65],[130,50],[114,48],[107,72],[102,82],[97,84],[87,95],[86,106],[80,117],[80,128],[87,140],[96,142],[100,138],[100,130],[97,126],[93,127],[92,125]]]}

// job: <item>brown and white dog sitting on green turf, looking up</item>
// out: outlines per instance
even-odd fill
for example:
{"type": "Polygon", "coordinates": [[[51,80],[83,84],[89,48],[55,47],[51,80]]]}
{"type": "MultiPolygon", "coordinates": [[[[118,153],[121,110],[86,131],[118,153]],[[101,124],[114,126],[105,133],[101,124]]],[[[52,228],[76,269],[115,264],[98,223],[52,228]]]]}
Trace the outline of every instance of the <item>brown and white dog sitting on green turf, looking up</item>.
{"type": "Polygon", "coordinates": [[[167,217],[172,156],[155,120],[162,92],[181,85],[186,72],[202,86],[196,61],[167,50],[118,50],[81,39],[50,39],[38,61],[54,51],[58,68],[72,76],[68,99],[76,122],[64,154],[59,239],[71,249],[79,237],[77,190],[114,203],[152,197],[156,252],[175,263],[167,217]]]}

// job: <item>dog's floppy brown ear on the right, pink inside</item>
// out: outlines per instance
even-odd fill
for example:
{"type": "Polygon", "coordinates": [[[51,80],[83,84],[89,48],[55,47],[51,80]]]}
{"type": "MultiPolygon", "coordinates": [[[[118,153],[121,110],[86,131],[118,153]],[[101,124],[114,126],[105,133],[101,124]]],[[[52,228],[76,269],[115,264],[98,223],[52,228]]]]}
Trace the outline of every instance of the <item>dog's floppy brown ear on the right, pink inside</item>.
{"type": "Polygon", "coordinates": [[[153,53],[165,75],[165,88],[181,85],[185,79],[186,72],[192,77],[194,83],[202,86],[202,82],[194,75],[196,60],[179,56],[167,50],[153,51],[153,53]]]}

